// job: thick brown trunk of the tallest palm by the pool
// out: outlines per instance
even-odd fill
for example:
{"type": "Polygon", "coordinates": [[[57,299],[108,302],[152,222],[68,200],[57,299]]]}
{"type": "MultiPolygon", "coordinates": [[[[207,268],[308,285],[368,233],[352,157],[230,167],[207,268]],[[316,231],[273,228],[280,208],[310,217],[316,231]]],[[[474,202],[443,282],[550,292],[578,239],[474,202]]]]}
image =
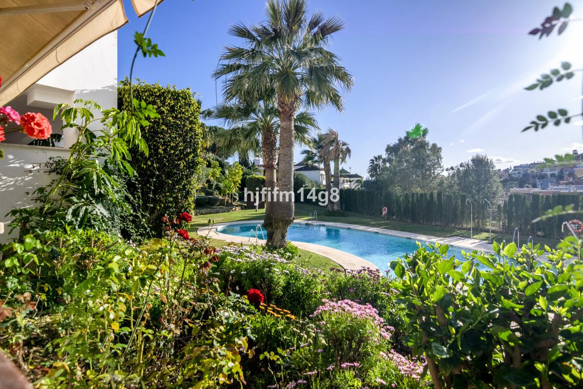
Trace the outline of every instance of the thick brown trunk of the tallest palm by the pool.
{"type": "Polygon", "coordinates": [[[294,218],[293,203],[293,151],[294,131],[293,121],[296,114],[296,104],[286,99],[278,99],[279,109],[279,191],[278,198],[273,202],[272,219],[265,220],[267,230],[267,246],[282,248],[287,244],[287,228],[294,218]]]}

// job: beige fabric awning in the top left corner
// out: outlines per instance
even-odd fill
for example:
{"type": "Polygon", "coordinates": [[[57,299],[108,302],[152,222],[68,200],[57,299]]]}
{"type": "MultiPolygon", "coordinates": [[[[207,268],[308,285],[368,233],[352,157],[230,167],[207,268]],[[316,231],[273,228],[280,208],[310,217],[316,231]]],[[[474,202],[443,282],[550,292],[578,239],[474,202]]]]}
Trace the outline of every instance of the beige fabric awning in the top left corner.
{"type": "MultiPolygon", "coordinates": [[[[155,0],[134,0],[138,15],[155,0]]],[[[0,0],[0,106],[128,22],[122,0],[0,0]]]]}

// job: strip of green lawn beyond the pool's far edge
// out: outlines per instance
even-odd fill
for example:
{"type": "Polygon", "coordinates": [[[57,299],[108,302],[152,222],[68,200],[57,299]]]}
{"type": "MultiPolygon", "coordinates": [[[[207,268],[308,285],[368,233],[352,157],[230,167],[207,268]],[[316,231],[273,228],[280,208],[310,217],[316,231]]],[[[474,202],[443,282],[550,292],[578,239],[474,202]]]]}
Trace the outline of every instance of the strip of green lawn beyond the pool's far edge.
{"type": "MultiPolygon", "coordinates": [[[[346,217],[329,217],[322,216],[322,212],[326,210],[323,206],[296,203],[296,219],[307,219],[310,212],[318,211],[318,220],[324,222],[338,222],[338,223],[349,223],[361,226],[379,227],[386,228],[389,230],[405,231],[419,234],[426,234],[436,237],[449,237],[449,236],[461,236],[470,237],[469,230],[461,230],[447,227],[434,227],[434,226],[424,226],[413,223],[397,222],[395,220],[384,220],[381,218],[371,218],[370,216],[357,215],[356,213],[346,212],[348,216],[346,217]]],[[[199,227],[208,225],[209,219],[213,220],[214,223],[225,223],[234,222],[238,220],[262,220],[264,215],[264,210],[259,209],[244,209],[238,212],[227,212],[227,213],[215,213],[214,215],[203,215],[194,216],[192,218],[193,229],[196,230],[199,227]]],[[[473,234],[475,239],[488,240],[488,232],[478,232],[473,234]]],[[[507,242],[512,241],[512,235],[505,234],[495,234],[492,233],[492,239],[496,241],[506,240],[507,242]]],[[[526,243],[528,236],[521,236],[521,244],[526,243]]],[[[559,240],[554,239],[543,239],[535,237],[535,243],[547,244],[549,247],[556,247],[559,240]]]]}

